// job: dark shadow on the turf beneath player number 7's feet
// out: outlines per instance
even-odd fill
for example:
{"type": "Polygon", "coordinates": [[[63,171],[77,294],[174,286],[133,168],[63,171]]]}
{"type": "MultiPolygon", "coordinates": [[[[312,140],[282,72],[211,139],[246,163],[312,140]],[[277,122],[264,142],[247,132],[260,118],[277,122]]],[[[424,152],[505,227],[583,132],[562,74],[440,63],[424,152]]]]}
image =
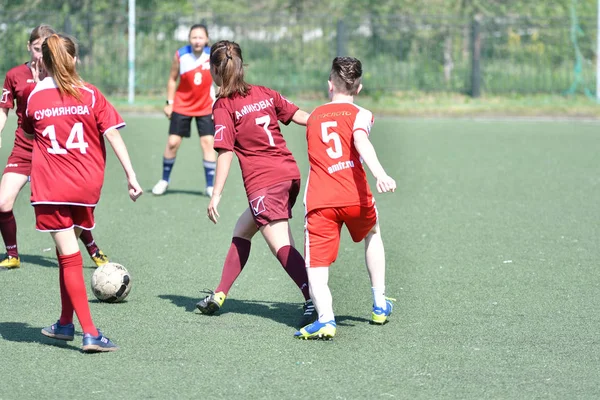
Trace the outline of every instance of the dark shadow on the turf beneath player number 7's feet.
{"type": "MultiPolygon", "coordinates": [[[[185,309],[187,312],[197,311],[196,303],[202,299],[202,297],[193,298],[178,295],[159,295],[158,297],[163,300],[169,300],[171,303],[185,309]]],[[[302,303],[282,303],[227,298],[223,308],[219,310],[215,316],[229,313],[255,315],[257,317],[271,319],[293,328],[298,328],[298,322],[302,317],[302,303]]],[[[198,311],[198,314],[200,314],[200,311],[198,311]]]]}

